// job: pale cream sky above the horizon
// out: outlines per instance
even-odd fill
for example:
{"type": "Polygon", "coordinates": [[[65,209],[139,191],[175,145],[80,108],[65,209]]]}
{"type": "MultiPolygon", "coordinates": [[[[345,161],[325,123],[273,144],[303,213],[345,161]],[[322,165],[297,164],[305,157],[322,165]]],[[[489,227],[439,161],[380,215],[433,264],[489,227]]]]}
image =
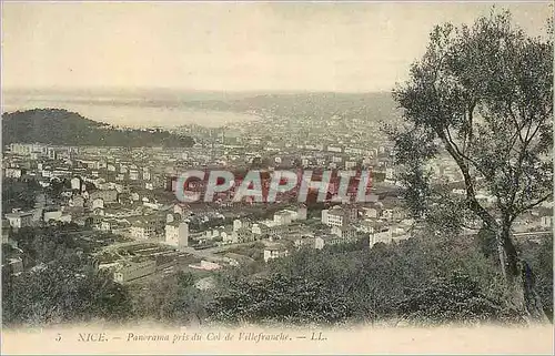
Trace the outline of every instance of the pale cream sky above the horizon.
{"type": "MultiPolygon", "coordinates": [[[[547,3],[497,4],[529,34],[547,3]]],[[[2,88],[381,91],[492,3],[3,2],[2,88]]]]}

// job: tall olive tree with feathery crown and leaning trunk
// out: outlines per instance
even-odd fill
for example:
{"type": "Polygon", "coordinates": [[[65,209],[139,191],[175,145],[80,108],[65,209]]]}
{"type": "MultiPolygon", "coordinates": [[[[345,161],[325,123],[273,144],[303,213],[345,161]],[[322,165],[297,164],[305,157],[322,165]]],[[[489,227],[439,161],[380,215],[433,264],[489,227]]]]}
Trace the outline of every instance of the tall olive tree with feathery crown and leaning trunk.
{"type": "Polygon", "coordinates": [[[544,314],[512,227],[553,195],[548,32],[531,38],[508,12],[496,11],[473,26],[435,27],[410,79],[393,91],[403,124],[387,129],[414,216],[488,231],[512,301],[536,319],[544,314]],[[433,160],[453,163],[463,195],[434,183],[433,160]],[[484,204],[480,191],[493,196],[493,204],[484,204]]]}

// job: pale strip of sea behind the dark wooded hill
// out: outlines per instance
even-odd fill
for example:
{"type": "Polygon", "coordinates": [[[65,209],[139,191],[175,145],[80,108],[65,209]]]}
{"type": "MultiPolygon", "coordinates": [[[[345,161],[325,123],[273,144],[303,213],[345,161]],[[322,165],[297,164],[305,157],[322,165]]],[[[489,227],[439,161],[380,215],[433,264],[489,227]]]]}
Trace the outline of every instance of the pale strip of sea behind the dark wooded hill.
{"type": "Polygon", "coordinates": [[[192,108],[190,101],[233,100],[244,94],[172,90],[6,90],[1,112],[65,109],[82,116],[125,128],[162,128],[196,124],[218,128],[259,120],[256,115],[192,108]]]}

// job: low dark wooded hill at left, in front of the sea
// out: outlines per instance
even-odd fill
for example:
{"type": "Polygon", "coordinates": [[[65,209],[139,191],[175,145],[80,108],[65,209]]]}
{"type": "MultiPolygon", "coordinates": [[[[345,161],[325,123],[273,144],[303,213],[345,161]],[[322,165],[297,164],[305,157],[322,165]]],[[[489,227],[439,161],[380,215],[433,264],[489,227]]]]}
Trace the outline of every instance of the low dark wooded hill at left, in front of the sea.
{"type": "Polygon", "coordinates": [[[122,130],[62,109],[33,109],[2,114],[2,142],[54,145],[189,148],[190,136],[162,130],[122,130]]]}

